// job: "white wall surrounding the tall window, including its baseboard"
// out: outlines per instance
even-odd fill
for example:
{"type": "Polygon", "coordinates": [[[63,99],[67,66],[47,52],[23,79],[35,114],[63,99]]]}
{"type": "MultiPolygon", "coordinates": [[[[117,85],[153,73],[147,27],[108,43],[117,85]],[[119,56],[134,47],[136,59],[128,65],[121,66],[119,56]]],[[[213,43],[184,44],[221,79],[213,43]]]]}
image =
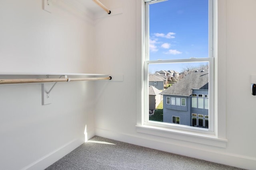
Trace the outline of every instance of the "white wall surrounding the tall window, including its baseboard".
{"type": "MultiPolygon", "coordinates": [[[[102,2],[111,7],[120,0],[102,2]]],[[[226,148],[136,132],[136,0],[122,2],[123,14],[96,20],[95,25],[96,46],[102,49],[95,53],[97,70],[124,74],[123,82],[106,82],[104,90],[98,92],[96,135],[255,169],[256,97],[250,94],[249,78],[256,74],[256,1],[226,0],[226,24],[222,25],[226,27],[226,65],[219,64],[226,70],[226,94],[219,96],[226,98],[226,148]],[[103,55],[106,57],[102,58],[103,55]]]]}

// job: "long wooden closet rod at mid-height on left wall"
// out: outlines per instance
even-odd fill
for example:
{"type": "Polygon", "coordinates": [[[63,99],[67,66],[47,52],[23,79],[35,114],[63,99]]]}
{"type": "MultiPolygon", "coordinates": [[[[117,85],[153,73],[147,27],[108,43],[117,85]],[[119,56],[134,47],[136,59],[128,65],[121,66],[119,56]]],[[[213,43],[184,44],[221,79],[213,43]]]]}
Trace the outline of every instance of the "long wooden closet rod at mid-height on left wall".
{"type": "Polygon", "coordinates": [[[20,83],[45,83],[45,82],[73,82],[73,81],[93,81],[111,80],[112,77],[92,77],[92,78],[35,78],[35,79],[0,79],[0,84],[20,84],[20,83]]]}

